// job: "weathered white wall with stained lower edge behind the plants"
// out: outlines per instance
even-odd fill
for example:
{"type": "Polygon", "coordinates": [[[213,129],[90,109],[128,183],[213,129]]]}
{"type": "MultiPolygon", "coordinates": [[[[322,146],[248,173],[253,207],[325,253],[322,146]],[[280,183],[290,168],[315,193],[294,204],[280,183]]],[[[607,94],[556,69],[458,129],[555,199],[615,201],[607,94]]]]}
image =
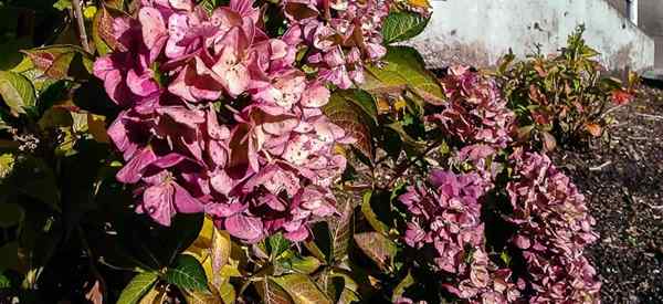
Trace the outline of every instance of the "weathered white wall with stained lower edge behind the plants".
{"type": "MultiPolygon", "coordinates": [[[[663,0],[656,0],[663,1],[663,0]]],[[[523,56],[551,53],[577,24],[611,70],[654,65],[654,42],[603,0],[433,0],[427,30],[410,44],[431,67],[453,63],[493,65],[509,48],[523,56]]]]}

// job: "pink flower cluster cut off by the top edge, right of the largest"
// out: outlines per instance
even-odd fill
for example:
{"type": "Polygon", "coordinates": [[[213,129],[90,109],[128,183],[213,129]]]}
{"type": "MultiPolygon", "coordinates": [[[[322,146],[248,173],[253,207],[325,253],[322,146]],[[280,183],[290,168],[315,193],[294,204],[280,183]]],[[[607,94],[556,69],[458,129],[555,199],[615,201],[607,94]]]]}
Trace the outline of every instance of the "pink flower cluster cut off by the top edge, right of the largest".
{"type": "Polygon", "coordinates": [[[378,62],[389,0],[284,0],[291,29],[308,46],[306,62],[340,88],[364,82],[364,63],[378,62]]]}

